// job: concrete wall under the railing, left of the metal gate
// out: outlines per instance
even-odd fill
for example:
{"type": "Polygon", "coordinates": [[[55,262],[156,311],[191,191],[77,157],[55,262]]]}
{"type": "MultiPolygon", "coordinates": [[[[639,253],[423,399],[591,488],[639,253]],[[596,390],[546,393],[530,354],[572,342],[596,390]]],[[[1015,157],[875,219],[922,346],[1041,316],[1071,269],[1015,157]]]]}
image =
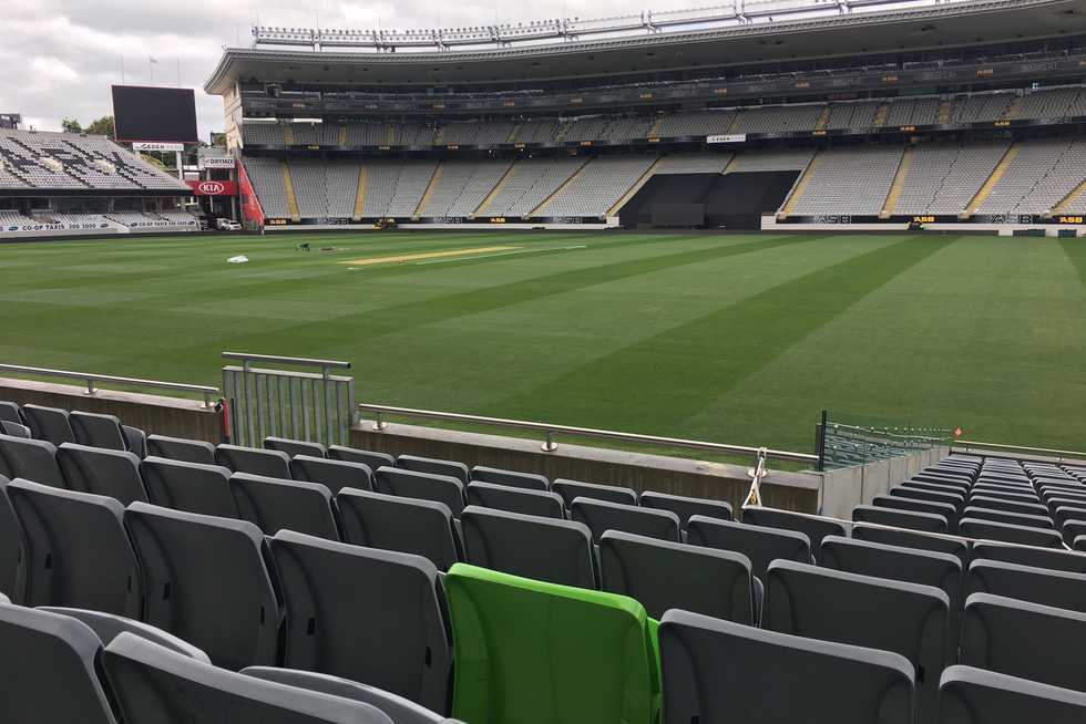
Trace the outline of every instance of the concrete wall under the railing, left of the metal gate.
{"type": "Polygon", "coordinates": [[[222,443],[226,439],[223,415],[205,408],[202,401],[181,400],[132,392],[100,390],[51,382],[0,377],[0,400],[19,405],[34,404],[72,411],[116,415],[125,425],[150,433],[222,443]]]}

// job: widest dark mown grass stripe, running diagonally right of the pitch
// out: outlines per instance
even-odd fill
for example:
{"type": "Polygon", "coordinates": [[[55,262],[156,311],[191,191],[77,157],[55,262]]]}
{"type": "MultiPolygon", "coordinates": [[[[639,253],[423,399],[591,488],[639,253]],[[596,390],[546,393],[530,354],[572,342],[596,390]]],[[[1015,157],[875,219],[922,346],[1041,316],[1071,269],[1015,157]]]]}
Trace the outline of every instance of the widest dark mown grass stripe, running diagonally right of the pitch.
{"type": "Polygon", "coordinates": [[[881,246],[615,350],[485,412],[515,414],[545,395],[555,422],[603,426],[641,418],[637,432],[674,432],[800,340],[945,247],[942,239],[915,238],[881,246]],[[652,380],[658,384],[646,383],[652,380]],[[603,400],[607,403],[601,404],[603,400]]]}

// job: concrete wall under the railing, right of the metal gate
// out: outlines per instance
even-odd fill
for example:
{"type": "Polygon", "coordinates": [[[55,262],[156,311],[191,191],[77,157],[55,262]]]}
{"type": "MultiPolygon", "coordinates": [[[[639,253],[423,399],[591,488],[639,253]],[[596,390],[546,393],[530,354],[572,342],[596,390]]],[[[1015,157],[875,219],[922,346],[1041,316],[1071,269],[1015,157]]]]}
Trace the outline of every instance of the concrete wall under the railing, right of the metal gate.
{"type": "MultiPolygon", "coordinates": [[[[416,425],[389,424],[373,430],[361,422],[351,430],[351,446],[392,455],[421,455],[460,461],[469,467],[486,465],[540,473],[551,479],[568,478],[642,490],[726,500],[738,508],[747,497],[750,478],[739,465],[647,455],[561,443],[544,452],[537,439],[483,435],[416,425]]],[[[766,506],[816,513],[820,476],[772,470],[761,484],[766,506]]]]}

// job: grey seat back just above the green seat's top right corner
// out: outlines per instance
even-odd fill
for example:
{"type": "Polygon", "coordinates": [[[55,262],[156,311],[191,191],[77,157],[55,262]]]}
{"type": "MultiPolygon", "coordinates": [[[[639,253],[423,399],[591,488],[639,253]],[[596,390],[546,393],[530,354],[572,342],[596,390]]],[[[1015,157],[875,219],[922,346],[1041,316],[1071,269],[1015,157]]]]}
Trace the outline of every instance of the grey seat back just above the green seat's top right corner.
{"type": "Polygon", "coordinates": [[[600,588],[635,599],[657,620],[682,609],[758,623],[756,583],[742,554],[608,530],[600,539],[600,588]]]}

